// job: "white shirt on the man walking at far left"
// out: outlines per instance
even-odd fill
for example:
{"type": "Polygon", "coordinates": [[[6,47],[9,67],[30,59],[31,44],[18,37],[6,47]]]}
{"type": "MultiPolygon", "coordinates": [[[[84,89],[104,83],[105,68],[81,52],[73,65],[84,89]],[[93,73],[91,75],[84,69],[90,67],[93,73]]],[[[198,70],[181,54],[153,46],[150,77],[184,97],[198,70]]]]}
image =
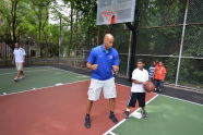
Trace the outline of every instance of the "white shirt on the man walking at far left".
{"type": "Polygon", "coordinates": [[[13,51],[13,54],[15,57],[15,62],[22,63],[24,62],[24,57],[26,56],[25,50],[23,48],[15,48],[13,51]]]}

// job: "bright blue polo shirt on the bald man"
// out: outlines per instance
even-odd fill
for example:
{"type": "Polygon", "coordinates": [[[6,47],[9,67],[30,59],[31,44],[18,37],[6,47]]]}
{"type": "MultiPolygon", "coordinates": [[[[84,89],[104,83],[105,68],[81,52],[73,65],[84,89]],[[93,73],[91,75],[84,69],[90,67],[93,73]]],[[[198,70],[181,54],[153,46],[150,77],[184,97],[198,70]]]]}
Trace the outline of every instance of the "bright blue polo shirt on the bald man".
{"type": "Polygon", "coordinates": [[[104,46],[100,45],[92,49],[87,62],[98,64],[97,70],[92,71],[92,78],[106,81],[114,76],[112,65],[119,65],[119,54],[116,49],[105,50],[104,46]]]}

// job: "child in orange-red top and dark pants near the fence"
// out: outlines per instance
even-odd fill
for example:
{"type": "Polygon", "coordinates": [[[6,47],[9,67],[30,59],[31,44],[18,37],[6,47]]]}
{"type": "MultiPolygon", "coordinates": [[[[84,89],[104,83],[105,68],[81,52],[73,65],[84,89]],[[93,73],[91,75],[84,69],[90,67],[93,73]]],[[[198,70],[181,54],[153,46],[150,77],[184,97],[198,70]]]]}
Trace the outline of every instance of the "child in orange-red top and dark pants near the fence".
{"type": "Polygon", "coordinates": [[[154,70],[155,91],[162,91],[164,87],[164,81],[166,77],[166,68],[163,62],[159,61],[154,70]]]}

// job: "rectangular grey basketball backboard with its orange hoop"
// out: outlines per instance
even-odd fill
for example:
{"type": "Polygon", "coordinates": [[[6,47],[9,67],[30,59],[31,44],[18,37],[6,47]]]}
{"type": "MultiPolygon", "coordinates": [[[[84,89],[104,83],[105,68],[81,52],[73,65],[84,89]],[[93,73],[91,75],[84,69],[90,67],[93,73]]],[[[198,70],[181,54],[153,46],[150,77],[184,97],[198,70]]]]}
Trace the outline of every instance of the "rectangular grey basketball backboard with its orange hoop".
{"type": "Polygon", "coordinates": [[[135,0],[97,0],[97,25],[134,21],[135,0]]]}

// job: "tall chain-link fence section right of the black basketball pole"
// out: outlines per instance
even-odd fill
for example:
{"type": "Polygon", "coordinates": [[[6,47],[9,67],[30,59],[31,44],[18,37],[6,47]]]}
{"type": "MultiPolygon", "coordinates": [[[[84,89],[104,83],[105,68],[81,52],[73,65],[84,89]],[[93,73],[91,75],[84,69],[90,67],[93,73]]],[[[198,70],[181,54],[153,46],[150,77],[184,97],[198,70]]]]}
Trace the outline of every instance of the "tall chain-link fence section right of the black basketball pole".
{"type": "Polygon", "coordinates": [[[163,60],[166,82],[202,89],[203,1],[145,0],[140,9],[138,58],[163,60]]]}

